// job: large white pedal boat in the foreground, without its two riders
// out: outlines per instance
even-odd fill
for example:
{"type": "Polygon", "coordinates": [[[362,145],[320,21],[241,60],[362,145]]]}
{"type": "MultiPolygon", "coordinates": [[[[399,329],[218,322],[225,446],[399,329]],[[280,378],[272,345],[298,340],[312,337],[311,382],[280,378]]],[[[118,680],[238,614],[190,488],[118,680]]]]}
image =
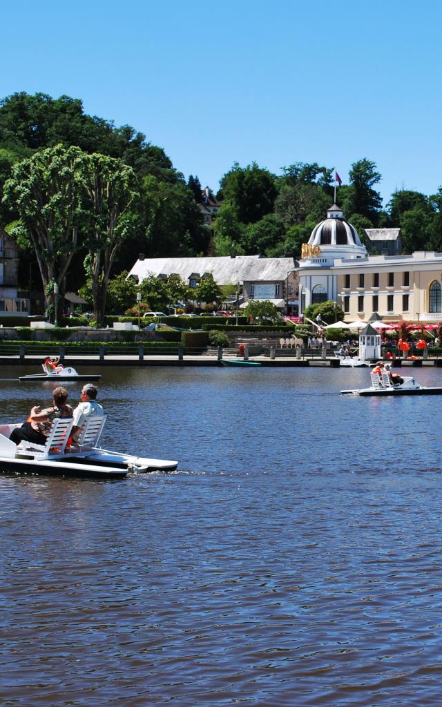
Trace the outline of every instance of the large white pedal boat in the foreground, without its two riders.
{"type": "Polygon", "coordinates": [[[98,447],[104,417],[91,417],[84,424],[78,443],[67,447],[72,419],[59,418],[52,423],[45,445],[13,443],[9,436],[20,424],[0,425],[0,473],[52,474],[63,477],[123,479],[127,474],[172,472],[178,462],[122,454],[98,447]]]}

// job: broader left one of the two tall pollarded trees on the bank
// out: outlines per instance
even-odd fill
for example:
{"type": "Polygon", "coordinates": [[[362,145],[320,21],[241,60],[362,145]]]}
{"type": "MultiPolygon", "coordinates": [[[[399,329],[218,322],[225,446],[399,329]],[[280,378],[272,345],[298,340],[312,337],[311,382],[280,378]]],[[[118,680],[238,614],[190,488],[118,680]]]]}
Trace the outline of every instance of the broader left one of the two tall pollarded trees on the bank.
{"type": "Polygon", "coordinates": [[[86,218],[84,157],[76,147],[42,150],[13,165],[4,187],[6,204],[20,216],[13,235],[32,243],[50,304],[54,304],[53,284],[59,287],[62,303],[66,272],[86,218]]]}

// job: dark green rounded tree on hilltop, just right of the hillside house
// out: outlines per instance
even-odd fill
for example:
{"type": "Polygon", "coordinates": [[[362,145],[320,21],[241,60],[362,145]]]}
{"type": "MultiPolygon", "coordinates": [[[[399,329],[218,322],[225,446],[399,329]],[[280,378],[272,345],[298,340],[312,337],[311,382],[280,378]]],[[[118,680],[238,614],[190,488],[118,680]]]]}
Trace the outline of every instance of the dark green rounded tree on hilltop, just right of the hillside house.
{"type": "Polygon", "coordinates": [[[224,201],[235,207],[241,223],[256,223],[273,211],[276,177],[252,162],[245,168],[235,162],[221,179],[224,201]]]}

